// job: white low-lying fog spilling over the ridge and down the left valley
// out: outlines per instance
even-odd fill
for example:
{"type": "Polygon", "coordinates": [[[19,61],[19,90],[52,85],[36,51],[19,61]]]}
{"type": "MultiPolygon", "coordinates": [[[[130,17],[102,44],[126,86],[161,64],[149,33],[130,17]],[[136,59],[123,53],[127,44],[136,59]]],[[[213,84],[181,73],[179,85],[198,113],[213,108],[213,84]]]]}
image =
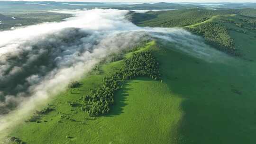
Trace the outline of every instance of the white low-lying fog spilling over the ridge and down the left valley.
{"type": "Polygon", "coordinates": [[[225,57],[183,29],[137,27],[126,20],[128,10],[55,12],[74,17],[0,32],[0,135],[102,58],[136,45],[141,38],[163,39],[208,62],[222,62],[225,57]]]}

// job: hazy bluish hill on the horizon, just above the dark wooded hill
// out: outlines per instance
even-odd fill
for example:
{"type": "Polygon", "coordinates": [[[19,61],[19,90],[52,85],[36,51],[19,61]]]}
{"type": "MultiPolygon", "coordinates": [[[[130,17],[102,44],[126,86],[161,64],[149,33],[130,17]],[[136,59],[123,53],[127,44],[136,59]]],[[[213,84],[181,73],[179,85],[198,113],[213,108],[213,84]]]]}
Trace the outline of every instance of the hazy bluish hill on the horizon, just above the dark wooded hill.
{"type": "Polygon", "coordinates": [[[142,3],[142,4],[133,4],[133,5],[119,5],[113,7],[113,9],[192,9],[197,8],[198,6],[194,5],[183,5],[177,3],[167,3],[167,2],[159,2],[159,3],[142,3]]]}

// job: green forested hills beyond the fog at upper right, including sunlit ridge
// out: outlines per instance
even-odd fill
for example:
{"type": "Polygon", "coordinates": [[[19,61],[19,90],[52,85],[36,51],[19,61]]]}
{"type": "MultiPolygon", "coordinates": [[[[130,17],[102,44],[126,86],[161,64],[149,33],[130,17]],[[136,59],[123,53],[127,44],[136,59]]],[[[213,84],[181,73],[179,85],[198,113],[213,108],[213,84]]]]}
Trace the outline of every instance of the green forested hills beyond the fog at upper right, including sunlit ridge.
{"type": "Polygon", "coordinates": [[[142,27],[183,27],[201,35],[215,48],[239,55],[230,31],[247,33],[256,30],[256,9],[179,9],[131,12],[128,18],[142,27]]]}

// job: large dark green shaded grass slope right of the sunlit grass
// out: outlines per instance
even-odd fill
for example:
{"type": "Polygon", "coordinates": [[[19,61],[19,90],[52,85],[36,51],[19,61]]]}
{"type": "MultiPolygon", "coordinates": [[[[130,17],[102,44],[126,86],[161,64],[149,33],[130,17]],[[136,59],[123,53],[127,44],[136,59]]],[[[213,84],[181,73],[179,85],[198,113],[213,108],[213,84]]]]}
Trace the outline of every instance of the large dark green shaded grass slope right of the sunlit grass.
{"type": "Polygon", "coordinates": [[[207,63],[170,51],[157,55],[164,83],[183,99],[183,117],[177,132],[170,132],[176,144],[256,144],[255,75],[239,63],[207,63]]]}

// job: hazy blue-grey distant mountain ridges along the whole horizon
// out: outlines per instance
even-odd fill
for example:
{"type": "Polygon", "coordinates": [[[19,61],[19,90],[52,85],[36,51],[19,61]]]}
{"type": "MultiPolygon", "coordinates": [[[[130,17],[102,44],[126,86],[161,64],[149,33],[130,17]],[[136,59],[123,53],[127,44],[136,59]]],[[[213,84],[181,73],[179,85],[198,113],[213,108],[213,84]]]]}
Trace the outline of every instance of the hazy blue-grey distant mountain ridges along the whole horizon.
{"type": "Polygon", "coordinates": [[[0,13],[22,10],[52,10],[52,9],[127,9],[127,10],[161,10],[161,9],[256,9],[256,3],[101,3],[101,2],[79,2],[79,1],[0,1],[0,13]]]}

